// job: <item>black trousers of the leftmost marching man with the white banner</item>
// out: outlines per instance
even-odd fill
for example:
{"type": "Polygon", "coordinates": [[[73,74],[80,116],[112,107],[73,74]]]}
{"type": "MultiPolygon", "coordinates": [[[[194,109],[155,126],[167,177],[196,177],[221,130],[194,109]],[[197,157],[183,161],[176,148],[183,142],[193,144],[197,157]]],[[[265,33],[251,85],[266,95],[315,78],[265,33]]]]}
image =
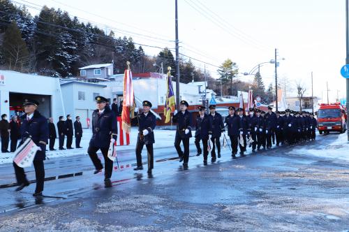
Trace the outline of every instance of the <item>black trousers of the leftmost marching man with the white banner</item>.
{"type": "MultiPolygon", "coordinates": [[[[36,189],[35,192],[38,193],[43,191],[44,181],[45,181],[45,168],[43,164],[43,160],[34,160],[33,161],[35,168],[35,177],[36,177],[36,189]]],[[[27,177],[24,173],[24,168],[17,166],[15,162],[13,162],[13,167],[15,168],[15,175],[17,179],[17,184],[26,184],[28,182],[27,177]]]]}

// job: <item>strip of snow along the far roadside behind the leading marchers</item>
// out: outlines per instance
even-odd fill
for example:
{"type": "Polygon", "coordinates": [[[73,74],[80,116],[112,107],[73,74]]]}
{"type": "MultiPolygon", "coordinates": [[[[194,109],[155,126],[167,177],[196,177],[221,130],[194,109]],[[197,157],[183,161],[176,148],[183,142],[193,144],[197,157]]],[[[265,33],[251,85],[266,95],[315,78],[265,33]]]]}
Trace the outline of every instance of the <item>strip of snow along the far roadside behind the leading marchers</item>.
{"type": "MultiPolygon", "coordinates": [[[[155,144],[154,148],[159,147],[169,147],[174,145],[174,135],[175,131],[167,130],[167,129],[156,129],[154,131],[155,136],[155,144]]],[[[84,129],[82,133],[82,140],[80,143],[80,149],[72,149],[72,150],[58,150],[58,138],[56,139],[56,143],[54,143],[54,148],[56,151],[47,151],[46,157],[48,159],[58,158],[58,157],[71,157],[79,154],[87,154],[87,148],[89,147],[89,140],[91,139],[92,131],[91,129],[84,129]]],[[[138,136],[138,128],[131,128],[130,133],[130,145],[118,146],[117,151],[124,150],[135,150],[135,144],[137,143],[138,136]]],[[[66,139],[64,140],[64,147],[66,147],[66,139]]],[[[73,138],[73,147],[75,147],[75,138],[73,138]]],[[[48,145],[46,146],[48,150],[48,145]]],[[[14,153],[0,153],[0,164],[10,164],[13,161],[14,153]]]]}

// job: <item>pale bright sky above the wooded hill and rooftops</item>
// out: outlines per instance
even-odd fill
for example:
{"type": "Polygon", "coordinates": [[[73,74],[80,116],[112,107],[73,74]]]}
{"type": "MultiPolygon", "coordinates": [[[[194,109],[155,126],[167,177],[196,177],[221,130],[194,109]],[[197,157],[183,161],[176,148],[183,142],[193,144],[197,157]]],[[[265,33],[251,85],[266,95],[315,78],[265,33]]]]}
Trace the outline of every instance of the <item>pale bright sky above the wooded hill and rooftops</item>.
{"type": "MultiPolygon", "coordinates": [[[[132,36],[136,43],[174,48],[174,0],[18,0],[38,8],[46,4],[70,15],[98,24],[117,36],[132,36]],[[30,2],[30,3],[29,3],[30,2]],[[104,25],[104,26],[102,26],[104,25]],[[160,39],[159,39],[160,38],[160,39]]],[[[345,64],[345,0],[178,0],[180,52],[219,66],[230,58],[239,71],[285,58],[279,76],[289,85],[303,82],[311,95],[311,71],[314,95],[326,100],[346,95],[346,81],[340,75],[345,64]],[[278,58],[278,59],[279,59],[278,58]]],[[[29,7],[33,15],[38,10],[29,7]]],[[[147,55],[160,48],[143,47],[147,55]]],[[[204,68],[204,64],[195,61],[204,68]]],[[[214,77],[216,67],[206,65],[214,77]]],[[[261,68],[265,84],[274,83],[274,67],[261,68]]]]}

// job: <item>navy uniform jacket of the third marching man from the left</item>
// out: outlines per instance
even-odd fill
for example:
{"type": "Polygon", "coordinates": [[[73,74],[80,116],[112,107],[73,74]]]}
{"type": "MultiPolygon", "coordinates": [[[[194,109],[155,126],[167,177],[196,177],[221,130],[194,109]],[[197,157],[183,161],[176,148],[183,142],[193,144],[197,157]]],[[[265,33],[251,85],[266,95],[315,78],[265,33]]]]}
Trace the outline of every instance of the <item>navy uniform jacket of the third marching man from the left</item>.
{"type": "Polygon", "coordinates": [[[141,113],[138,115],[138,120],[140,122],[139,128],[138,128],[138,139],[140,139],[140,132],[143,130],[147,130],[149,133],[147,136],[143,137],[142,142],[144,144],[152,144],[155,143],[155,138],[154,138],[154,129],[156,126],[156,117],[153,113],[149,111],[147,116],[144,115],[144,113],[141,113]]]}

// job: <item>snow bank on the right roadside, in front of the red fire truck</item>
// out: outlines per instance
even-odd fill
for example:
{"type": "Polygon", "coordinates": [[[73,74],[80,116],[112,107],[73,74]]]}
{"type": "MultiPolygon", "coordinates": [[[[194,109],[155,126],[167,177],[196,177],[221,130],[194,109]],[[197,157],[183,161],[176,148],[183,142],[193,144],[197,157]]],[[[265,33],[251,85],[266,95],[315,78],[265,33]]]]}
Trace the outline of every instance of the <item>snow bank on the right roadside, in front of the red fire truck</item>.
{"type": "Polygon", "coordinates": [[[313,155],[315,157],[324,157],[327,159],[342,159],[349,161],[349,143],[347,133],[341,133],[333,143],[318,147],[318,149],[309,149],[309,147],[295,148],[290,153],[313,155]]]}

